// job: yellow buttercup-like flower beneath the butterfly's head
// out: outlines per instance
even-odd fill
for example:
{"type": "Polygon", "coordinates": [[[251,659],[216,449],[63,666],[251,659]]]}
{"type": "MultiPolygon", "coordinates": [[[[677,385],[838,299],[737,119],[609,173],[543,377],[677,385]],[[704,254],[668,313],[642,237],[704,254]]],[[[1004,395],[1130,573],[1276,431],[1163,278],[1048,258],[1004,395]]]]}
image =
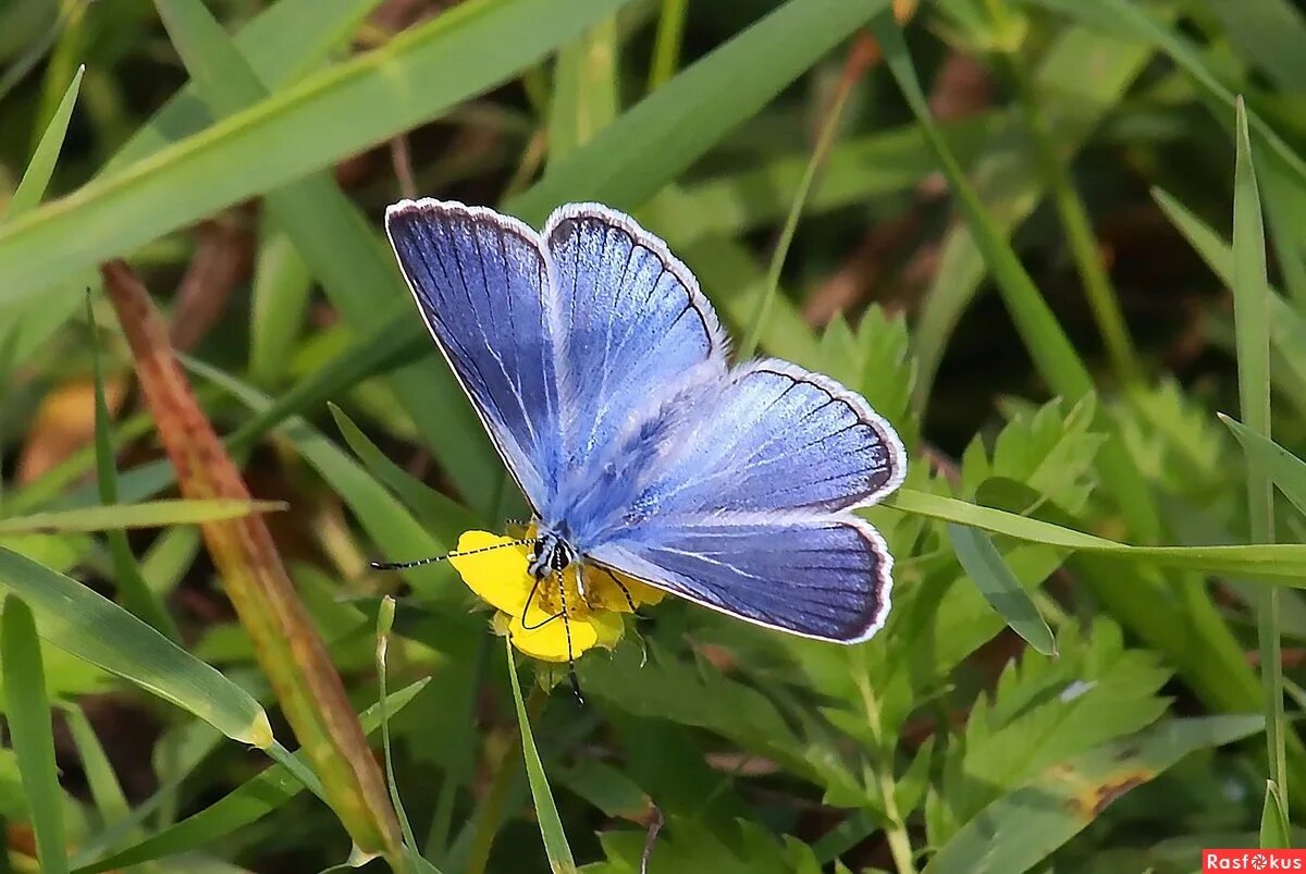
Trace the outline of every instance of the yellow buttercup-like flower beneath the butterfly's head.
{"type": "MultiPolygon", "coordinates": [[[[526,536],[533,537],[534,532],[528,532],[526,536]]],[[[563,598],[558,591],[556,577],[541,580],[535,588],[535,581],[526,570],[529,547],[513,543],[512,538],[490,532],[464,532],[458,538],[457,551],[474,554],[452,555],[449,563],[462,576],[468,588],[498,609],[492,621],[495,631],[507,634],[512,638],[512,645],[532,658],[567,661],[568,627],[573,657],[593,647],[611,649],[622,639],[624,623],[620,614],[631,613],[631,602],[639,606],[662,600],[660,589],[624,574],[615,574],[631,596],[627,601],[622,587],[614,583],[606,571],[593,567],[585,568],[585,597],[581,597],[573,564],[563,575],[567,596],[567,627],[564,627],[563,619],[558,617],[563,598]],[[487,546],[500,549],[486,550],[487,546]],[[533,588],[534,597],[530,594],[533,588]]]]}

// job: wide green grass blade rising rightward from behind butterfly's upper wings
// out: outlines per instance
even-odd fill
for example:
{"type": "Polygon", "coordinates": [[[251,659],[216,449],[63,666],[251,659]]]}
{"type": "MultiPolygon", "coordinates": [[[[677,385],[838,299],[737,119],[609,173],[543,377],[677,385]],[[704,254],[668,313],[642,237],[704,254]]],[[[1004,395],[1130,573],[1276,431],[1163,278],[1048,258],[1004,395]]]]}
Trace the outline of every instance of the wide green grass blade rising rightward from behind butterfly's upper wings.
{"type": "MultiPolygon", "coordinates": [[[[888,0],[789,0],[624,112],[507,212],[539,223],[568,201],[635,209],[885,8],[888,0]]],[[[0,238],[0,265],[3,257],[0,238]]]]}

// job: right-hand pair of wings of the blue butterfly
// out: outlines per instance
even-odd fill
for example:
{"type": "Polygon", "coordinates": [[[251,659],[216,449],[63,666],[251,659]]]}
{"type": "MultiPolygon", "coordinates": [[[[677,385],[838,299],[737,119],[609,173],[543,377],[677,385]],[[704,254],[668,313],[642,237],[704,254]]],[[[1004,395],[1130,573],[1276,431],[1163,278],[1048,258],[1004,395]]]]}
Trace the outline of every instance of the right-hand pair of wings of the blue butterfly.
{"type": "Polygon", "coordinates": [[[893,430],[835,380],[786,362],[737,370],[588,554],[768,627],[853,643],[888,611],[892,558],[866,521],[906,473],[893,430]]]}

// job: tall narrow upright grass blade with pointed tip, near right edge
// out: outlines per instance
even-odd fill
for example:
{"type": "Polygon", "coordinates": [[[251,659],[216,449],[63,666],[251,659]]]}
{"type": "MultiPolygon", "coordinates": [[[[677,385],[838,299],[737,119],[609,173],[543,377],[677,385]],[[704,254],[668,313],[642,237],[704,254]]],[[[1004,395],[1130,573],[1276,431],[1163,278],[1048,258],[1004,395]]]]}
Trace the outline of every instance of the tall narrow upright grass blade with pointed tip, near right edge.
{"type": "MultiPolygon", "coordinates": [[[[1249,431],[1269,439],[1269,281],[1266,277],[1266,230],[1260,193],[1251,161],[1251,136],[1242,99],[1237,102],[1237,167],[1233,197],[1233,302],[1238,349],[1238,398],[1249,431]]],[[[1247,506],[1251,538],[1275,540],[1275,493],[1264,457],[1247,455],[1247,506]]],[[[1284,668],[1280,652],[1279,592],[1260,592],[1256,604],[1256,636],[1260,673],[1266,688],[1266,743],[1269,779],[1288,800],[1288,754],[1284,733],[1284,668]]],[[[1285,810],[1286,813],[1286,810],[1285,810]]]]}

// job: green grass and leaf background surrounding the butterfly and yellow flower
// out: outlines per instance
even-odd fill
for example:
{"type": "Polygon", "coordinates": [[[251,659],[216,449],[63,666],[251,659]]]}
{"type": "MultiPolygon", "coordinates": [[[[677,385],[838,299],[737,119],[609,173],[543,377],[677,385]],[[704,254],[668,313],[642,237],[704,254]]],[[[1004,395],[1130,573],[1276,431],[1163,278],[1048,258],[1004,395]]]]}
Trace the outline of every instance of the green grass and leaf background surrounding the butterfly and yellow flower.
{"type": "Polygon", "coordinates": [[[1303,44],[1290,0],[0,3],[0,870],[1299,841],[1303,44]],[[415,193],[629,210],[862,392],[887,628],[669,600],[579,707],[448,567],[370,571],[521,515],[380,236],[415,193]]]}

